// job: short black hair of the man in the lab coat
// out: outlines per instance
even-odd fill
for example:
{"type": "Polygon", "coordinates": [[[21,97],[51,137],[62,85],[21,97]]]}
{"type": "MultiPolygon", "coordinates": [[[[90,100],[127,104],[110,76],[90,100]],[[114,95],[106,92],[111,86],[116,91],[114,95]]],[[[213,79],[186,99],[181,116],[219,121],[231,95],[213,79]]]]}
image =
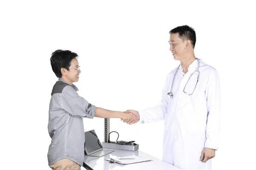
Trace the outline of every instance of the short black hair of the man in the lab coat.
{"type": "Polygon", "coordinates": [[[169,31],[170,34],[172,33],[179,33],[179,37],[185,41],[185,40],[190,40],[192,43],[192,48],[195,48],[195,30],[192,27],[189,27],[187,25],[185,26],[178,26],[176,28],[173,28],[171,31],[169,31]]]}

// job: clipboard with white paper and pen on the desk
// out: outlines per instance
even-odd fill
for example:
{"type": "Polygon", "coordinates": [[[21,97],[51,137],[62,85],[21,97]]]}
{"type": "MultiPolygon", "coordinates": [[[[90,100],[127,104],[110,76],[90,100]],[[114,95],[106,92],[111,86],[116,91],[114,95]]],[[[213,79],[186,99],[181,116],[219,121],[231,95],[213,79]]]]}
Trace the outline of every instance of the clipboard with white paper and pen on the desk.
{"type": "Polygon", "coordinates": [[[151,159],[145,159],[141,156],[125,156],[125,157],[118,157],[118,156],[110,156],[110,158],[105,159],[109,161],[109,163],[118,163],[118,164],[136,164],[136,163],[141,163],[141,162],[146,162],[146,161],[153,161],[151,159]]]}

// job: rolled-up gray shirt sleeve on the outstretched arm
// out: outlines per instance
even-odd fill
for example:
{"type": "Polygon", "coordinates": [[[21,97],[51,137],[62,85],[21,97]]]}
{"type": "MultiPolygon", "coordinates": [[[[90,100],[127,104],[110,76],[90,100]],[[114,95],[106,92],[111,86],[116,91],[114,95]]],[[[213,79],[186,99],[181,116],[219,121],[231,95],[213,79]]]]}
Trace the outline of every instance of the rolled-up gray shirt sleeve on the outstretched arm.
{"type": "Polygon", "coordinates": [[[96,106],[91,105],[86,99],[80,97],[76,90],[67,85],[61,93],[62,108],[73,116],[81,118],[93,118],[96,106]]]}

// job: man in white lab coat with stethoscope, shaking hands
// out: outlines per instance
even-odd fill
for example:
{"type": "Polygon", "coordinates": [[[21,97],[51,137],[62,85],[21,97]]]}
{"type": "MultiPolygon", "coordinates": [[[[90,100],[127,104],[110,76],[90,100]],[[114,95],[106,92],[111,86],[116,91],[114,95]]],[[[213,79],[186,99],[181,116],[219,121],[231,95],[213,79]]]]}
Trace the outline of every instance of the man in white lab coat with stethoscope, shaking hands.
{"type": "Polygon", "coordinates": [[[211,170],[219,140],[218,72],[195,57],[193,28],[179,26],[169,33],[170,51],[180,65],[167,75],[160,103],[127,112],[134,113],[140,123],[164,119],[164,161],[182,170],[211,170]]]}

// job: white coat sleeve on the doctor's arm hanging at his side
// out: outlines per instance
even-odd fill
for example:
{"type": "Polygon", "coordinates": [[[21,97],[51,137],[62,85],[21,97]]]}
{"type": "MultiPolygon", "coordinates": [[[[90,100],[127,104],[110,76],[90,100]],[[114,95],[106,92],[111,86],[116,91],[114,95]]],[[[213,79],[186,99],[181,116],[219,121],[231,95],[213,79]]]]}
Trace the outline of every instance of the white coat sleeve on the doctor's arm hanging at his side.
{"type": "Polygon", "coordinates": [[[220,130],[220,82],[218,72],[210,71],[207,88],[207,127],[204,147],[218,150],[220,130]]]}

